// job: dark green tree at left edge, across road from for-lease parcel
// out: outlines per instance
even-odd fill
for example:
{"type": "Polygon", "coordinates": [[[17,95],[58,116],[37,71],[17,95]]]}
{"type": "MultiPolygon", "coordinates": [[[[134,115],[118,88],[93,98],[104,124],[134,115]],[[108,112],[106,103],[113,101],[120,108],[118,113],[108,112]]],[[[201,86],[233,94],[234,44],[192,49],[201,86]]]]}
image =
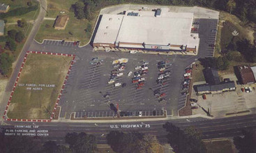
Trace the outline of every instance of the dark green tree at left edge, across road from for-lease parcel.
{"type": "Polygon", "coordinates": [[[13,58],[11,58],[8,54],[3,53],[0,55],[0,70],[1,74],[5,75],[9,72],[10,67],[12,67],[13,58]]]}

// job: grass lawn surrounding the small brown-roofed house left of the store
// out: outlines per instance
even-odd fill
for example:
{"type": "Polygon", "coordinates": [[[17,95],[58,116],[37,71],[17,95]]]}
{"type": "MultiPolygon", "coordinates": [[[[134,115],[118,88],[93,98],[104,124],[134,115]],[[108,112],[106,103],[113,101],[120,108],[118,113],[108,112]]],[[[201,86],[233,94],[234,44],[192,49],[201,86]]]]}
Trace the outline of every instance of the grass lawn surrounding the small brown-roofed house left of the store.
{"type": "MultiPolygon", "coordinates": [[[[69,21],[64,30],[55,30],[54,21],[45,20],[41,24],[40,29],[36,35],[36,40],[38,42],[43,42],[43,39],[54,39],[54,40],[68,40],[68,41],[80,41],[80,45],[85,45],[89,42],[91,38],[91,33],[93,32],[93,27],[95,25],[96,19],[89,22],[87,19],[77,19],[75,14],[70,11],[70,7],[77,0],[65,1],[62,0],[49,0],[47,1],[47,14],[45,17],[56,18],[57,15],[61,15],[60,12],[65,12],[63,15],[68,15],[69,21]],[[45,26],[48,24],[50,27],[45,26]],[[91,24],[91,31],[86,32],[87,26],[91,24]],[[72,34],[70,34],[72,33],[72,34]]],[[[96,17],[95,17],[96,18],[96,17]]]]}

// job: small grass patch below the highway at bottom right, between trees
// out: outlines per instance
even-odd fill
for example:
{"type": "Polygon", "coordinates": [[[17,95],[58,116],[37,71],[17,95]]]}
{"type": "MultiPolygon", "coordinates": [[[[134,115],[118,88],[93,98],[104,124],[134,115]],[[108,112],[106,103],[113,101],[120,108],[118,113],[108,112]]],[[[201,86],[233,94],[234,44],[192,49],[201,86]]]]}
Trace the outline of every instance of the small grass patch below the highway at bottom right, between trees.
{"type": "Polygon", "coordinates": [[[232,142],[230,140],[204,141],[207,153],[233,153],[232,142]]]}

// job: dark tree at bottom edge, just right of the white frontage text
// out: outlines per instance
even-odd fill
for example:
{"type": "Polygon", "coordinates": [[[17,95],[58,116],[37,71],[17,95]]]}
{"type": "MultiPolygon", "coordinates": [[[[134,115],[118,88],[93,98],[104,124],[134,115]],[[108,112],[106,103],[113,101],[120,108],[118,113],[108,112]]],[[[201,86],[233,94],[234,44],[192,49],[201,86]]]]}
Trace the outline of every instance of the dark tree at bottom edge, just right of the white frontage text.
{"type": "Polygon", "coordinates": [[[65,140],[73,152],[94,152],[96,150],[96,137],[91,134],[68,133],[65,140]]]}

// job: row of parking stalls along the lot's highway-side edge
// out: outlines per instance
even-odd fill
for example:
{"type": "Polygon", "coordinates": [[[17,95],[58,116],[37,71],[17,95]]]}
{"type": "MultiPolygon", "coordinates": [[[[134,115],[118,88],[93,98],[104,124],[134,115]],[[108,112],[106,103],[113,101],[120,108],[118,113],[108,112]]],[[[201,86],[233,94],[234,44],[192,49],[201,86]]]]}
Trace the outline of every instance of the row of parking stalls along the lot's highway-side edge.
{"type": "MultiPolygon", "coordinates": [[[[140,117],[149,117],[149,116],[163,116],[163,110],[141,110],[142,116],[140,117]]],[[[137,117],[139,116],[140,111],[120,111],[119,114],[121,117],[137,117]]],[[[114,111],[77,111],[75,112],[75,118],[110,118],[114,117],[116,114],[114,111]]]]}

